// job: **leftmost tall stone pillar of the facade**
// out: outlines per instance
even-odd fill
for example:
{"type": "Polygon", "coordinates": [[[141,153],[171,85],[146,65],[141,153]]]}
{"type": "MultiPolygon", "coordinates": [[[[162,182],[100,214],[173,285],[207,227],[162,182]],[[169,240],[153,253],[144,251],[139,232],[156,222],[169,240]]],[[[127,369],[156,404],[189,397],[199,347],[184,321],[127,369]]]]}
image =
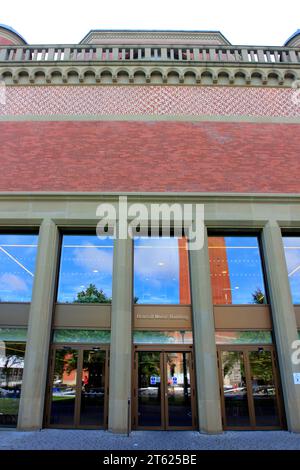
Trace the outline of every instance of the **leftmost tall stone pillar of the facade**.
{"type": "Polygon", "coordinates": [[[55,223],[43,220],[39,231],[19,407],[18,429],[21,430],[41,429],[43,426],[58,239],[55,223]]]}

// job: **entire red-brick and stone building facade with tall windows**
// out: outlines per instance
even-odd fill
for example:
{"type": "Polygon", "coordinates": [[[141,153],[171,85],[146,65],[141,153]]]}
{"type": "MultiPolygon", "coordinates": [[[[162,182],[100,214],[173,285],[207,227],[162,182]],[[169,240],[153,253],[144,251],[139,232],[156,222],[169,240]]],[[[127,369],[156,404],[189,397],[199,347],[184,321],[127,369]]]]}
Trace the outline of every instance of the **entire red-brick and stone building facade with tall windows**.
{"type": "Polygon", "coordinates": [[[0,426],[300,431],[299,82],[299,30],[0,25],[0,426]]]}

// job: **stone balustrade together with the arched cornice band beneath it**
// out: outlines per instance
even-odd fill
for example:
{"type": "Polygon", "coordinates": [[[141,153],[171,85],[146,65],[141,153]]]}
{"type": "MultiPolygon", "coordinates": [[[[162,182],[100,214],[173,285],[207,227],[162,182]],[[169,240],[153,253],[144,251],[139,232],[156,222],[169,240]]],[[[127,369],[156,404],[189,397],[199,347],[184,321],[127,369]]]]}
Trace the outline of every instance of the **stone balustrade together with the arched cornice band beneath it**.
{"type": "MultiPolygon", "coordinates": [[[[117,34],[117,33],[114,33],[117,34]]],[[[0,47],[0,80],[10,84],[291,86],[300,49],[191,45],[0,47]]]]}

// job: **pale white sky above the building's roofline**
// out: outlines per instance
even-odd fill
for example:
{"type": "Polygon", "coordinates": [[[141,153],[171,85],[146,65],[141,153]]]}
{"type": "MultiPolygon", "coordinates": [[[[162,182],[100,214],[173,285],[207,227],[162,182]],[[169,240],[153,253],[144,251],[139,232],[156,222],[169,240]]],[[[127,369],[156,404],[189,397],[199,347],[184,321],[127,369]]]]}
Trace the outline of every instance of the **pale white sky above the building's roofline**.
{"type": "Polygon", "coordinates": [[[76,44],[91,29],[219,30],[235,45],[280,46],[300,29],[300,1],[14,0],[0,23],[29,44],[76,44]]]}

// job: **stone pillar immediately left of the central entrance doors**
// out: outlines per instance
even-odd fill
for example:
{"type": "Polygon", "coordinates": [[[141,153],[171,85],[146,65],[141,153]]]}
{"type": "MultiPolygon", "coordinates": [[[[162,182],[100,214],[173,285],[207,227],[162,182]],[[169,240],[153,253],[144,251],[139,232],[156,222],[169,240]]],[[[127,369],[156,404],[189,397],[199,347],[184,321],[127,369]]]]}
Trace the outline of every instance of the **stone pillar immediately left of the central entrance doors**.
{"type": "Polygon", "coordinates": [[[115,240],[111,309],[108,429],[127,433],[132,362],[132,250],[131,239],[115,240]]]}

